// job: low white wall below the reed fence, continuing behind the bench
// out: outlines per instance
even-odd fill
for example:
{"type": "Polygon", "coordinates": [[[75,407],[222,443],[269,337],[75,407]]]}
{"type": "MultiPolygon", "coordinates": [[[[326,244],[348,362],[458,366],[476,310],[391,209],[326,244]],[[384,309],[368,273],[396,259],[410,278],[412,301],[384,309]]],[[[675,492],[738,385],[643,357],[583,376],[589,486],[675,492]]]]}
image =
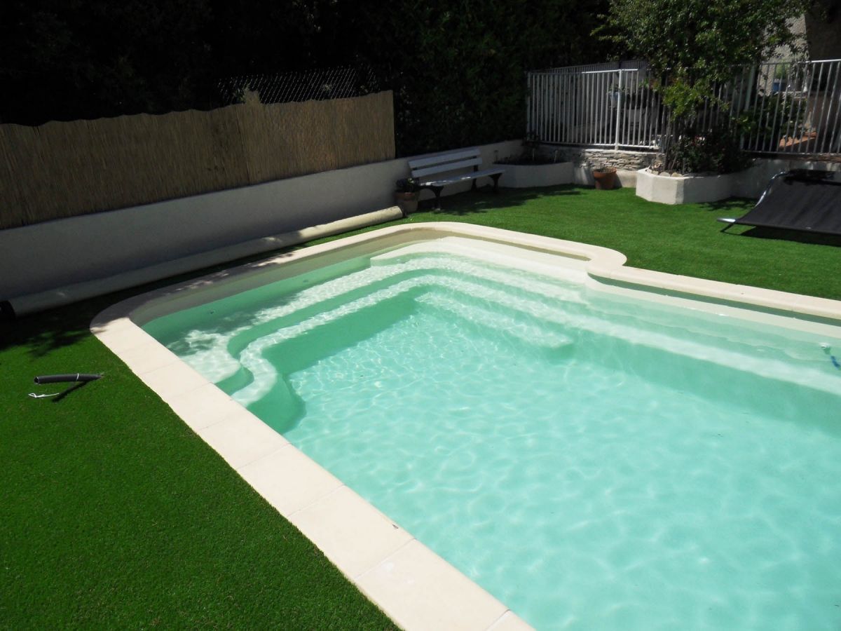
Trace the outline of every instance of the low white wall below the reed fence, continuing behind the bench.
{"type": "MultiPolygon", "coordinates": [[[[490,164],[495,151],[512,146],[520,141],[482,146],[483,161],[490,164]]],[[[56,289],[60,294],[68,285],[163,269],[161,263],[185,257],[193,257],[198,269],[206,259],[194,255],[390,207],[395,180],[408,175],[407,159],[400,158],[3,230],[0,301],[56,289]]],[[[450,186],[444,194],[469,186],[450,186]]],[[[271,249],[272,240],[266,243],[271,249]]],[[[114,289],[119,287],[102,293],[114,289]]]]}

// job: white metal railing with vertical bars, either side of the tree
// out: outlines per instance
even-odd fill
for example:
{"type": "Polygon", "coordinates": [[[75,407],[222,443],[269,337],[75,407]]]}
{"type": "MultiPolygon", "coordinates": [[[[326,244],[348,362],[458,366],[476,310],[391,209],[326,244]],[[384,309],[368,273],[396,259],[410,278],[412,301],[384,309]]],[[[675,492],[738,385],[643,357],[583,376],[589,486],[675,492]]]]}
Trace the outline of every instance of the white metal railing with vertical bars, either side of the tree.
{"type": "MultiPolygon", "coordinates": [[[[841,153],[839,75],[841,60],[738,68],[698,111],[696,130],[740,119],[746,151],[841,153]]],[[[637,62],[529,72],[526,131],[551,144],[659,150],[669,112],[653,78],[637,62]]]]}

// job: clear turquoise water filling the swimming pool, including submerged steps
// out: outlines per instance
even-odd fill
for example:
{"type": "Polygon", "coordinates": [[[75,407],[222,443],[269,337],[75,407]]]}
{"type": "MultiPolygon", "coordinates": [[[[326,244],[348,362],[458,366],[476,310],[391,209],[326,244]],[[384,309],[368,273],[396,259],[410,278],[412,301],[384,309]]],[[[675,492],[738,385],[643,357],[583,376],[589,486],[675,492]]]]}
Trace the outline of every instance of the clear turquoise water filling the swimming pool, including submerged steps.
{"type": "Polygon", "coordinates": [[[144,328],[537,628],[841,626],[838,335],[459,252],[144,328]]]}

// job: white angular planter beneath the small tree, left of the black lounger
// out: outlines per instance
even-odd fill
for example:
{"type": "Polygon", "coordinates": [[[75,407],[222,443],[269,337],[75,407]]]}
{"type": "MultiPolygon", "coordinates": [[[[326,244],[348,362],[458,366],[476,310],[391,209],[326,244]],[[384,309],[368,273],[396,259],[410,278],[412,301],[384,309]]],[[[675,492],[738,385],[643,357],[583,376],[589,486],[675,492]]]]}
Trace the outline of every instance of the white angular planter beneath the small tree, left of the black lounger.
{"type": "Polygon", "coordinates": [[[736,194],[741,176],[741,173],[727,173],[672,178],[640,169],[637,171],[637,195],[659,204],[716,202],[736,194]]]}

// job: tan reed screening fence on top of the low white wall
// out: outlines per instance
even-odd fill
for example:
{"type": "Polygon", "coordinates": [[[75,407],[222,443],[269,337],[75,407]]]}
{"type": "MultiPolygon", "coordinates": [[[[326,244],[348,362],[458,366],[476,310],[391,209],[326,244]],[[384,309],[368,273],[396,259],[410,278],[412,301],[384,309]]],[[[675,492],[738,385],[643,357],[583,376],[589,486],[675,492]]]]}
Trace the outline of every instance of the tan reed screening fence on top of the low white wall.
{"type": "Polygon", "coordinates": [[[390,91],[0,125],[0,229],[394,158],[390,91]]]}

